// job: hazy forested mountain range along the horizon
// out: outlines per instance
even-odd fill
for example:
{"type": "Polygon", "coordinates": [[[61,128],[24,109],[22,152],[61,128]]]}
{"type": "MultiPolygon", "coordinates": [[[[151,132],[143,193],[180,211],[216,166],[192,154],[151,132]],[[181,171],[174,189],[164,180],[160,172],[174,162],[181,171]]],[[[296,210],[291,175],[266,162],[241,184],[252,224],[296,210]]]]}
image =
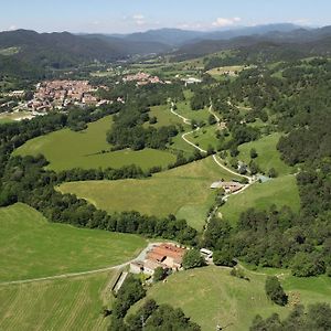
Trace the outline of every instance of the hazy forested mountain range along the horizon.
{"type": "Polygon", "coordinates": [[[231,49],[254,52],[255,45],[269,54],[280,47],[298,54],[330,54],[330,40],[331,26],[305,29],[288,23],[212,32],[160,29],[127,35],[17,30],[0,32],[0,68],[2,74],[25,72],[28,76],[31,71],[18,68],[31,66],[40,75],[47,67],[67,68],[95,60],[115,62],[150,54],[183,60],[231,49]]]}

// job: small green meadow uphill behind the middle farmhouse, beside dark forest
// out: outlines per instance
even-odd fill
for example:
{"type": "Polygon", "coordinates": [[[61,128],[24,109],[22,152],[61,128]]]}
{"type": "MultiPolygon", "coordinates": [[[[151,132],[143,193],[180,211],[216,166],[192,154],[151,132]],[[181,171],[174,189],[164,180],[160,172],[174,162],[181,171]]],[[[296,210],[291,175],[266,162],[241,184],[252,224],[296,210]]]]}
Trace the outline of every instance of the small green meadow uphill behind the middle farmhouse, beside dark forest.
{"type": "Polygon", "coordinates": [[[279,175],[288,174],[292,168],[287,166],[281,159],[280,153],[276,146],[279,141],[281,134],[273,134],[257,141],[247,142],[241,145],[238,159],[249,163],[250,161],[250,149],[255,148],[258,157],[254,160],[261,171],[268,172],[270,168],[275,168],[279,175]]]}

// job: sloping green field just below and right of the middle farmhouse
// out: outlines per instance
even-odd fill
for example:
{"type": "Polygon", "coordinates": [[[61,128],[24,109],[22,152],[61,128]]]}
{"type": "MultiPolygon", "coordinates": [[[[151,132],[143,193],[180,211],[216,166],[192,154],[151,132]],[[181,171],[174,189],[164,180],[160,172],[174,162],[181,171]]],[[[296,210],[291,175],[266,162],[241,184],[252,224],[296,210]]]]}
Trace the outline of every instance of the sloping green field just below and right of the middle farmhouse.
{"type": "Polygon", "coordinates": [[[247,209],[268,210],[273,204],[278,207],[288,205],[293,212],[299,211],[300,197],[295,175],[255,183],[244,192],[229,196],[220,212],[224,220],[235,224],[247,209]]]}

